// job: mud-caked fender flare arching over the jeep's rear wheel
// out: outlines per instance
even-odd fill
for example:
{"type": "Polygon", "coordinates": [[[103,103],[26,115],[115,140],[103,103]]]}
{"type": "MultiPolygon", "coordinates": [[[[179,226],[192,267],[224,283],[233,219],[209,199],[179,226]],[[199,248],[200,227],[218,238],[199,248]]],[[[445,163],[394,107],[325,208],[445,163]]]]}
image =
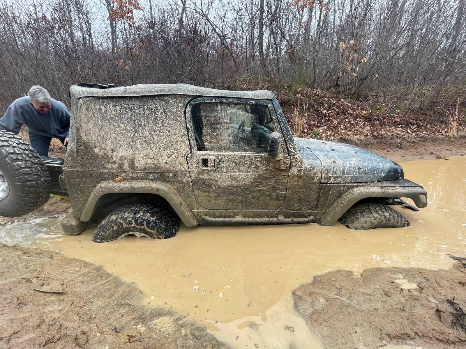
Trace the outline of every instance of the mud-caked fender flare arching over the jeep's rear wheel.
{"type": "Polygon", "coordinates": [[[137,193],[137,194],[155,194],[163,197],[171,208],[177,213],[181,221],[187,227],[194,227],[199,224],[196,217],[192,214],[185,201],[181,199],[178,193],[165,183],[158,181],[131,181],[122,182],[102,181],[92,190],[89,199],[84,206],[81,214],[81,221],[89,221],[94,214],[99,199],[106,194],[118,193],[137,193]]]}

